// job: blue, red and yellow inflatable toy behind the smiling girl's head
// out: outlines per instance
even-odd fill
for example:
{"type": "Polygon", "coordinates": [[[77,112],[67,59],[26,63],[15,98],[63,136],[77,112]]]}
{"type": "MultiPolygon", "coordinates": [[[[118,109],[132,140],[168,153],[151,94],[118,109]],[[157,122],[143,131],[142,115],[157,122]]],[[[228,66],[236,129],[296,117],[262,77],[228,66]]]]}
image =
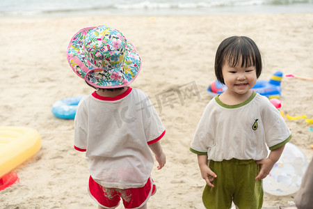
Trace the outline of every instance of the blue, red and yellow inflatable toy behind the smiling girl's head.
{"type": "MultiPolygon", "coordinates": [[[[268,99],[280,98],[282,88],[280,82],[282,81],[282,72],[275,72],[271,79],[268,81],[257,80],[255,86],[251,89],[257,93],[266,96],[268,99]]],[[[214,97],[220,93],[223,93],[227,87],[224,84],[220,84],[217,80],[209,85],[207,91],[211,97],[214,97]]]]}

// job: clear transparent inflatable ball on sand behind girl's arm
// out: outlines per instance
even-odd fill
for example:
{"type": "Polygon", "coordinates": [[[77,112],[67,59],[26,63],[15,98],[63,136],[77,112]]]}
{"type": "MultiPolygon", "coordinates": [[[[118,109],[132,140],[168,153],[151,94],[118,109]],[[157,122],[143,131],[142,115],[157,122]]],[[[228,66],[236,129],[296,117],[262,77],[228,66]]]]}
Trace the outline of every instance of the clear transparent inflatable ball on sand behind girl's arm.
{"type": "Polygon", "coordinates": [[[263,180],[264,192],[275,196],[294,194],[307,169],[307,158],[296,145],[287,143],[280,160],[263,180]]]}

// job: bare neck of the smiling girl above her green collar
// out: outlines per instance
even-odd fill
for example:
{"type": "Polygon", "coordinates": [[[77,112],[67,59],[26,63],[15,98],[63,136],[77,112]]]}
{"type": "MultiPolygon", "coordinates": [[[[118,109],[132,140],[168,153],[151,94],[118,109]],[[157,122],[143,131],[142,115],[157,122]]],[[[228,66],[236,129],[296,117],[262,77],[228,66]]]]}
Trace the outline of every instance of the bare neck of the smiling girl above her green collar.
{"type": "Polygon", "coordinates": [[[218,97],[218,99],[224,104],[236,105],[248,100],[252,93],[253,91],[251,89],[244,94],[232,93],[226,90],[218,97]]]}

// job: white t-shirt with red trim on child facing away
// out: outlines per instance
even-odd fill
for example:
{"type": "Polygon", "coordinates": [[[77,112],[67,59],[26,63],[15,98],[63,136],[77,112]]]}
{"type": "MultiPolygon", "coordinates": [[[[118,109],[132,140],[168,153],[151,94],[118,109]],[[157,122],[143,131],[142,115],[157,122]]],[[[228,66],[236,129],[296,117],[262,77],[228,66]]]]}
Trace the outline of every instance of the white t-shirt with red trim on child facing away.
{"type": "Polygon", "coordinates": [[[94,92],[79,102],[74,119],[74,148],[86,151],[90,176],[104,187],[143,187],[154,158],[148,144],[165,128],[147,95],[137,88],[116,97],[94,92]]]}

